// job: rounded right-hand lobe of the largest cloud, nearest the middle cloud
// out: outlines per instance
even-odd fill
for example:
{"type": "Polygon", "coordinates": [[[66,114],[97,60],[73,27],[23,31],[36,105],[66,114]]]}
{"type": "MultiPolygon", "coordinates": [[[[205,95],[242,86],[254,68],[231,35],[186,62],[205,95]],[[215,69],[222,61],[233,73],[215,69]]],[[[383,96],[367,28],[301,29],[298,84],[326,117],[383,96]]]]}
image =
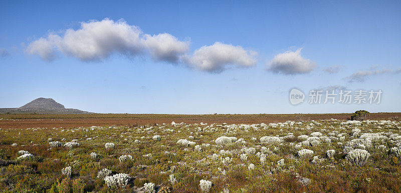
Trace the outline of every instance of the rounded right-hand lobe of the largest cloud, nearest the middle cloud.
{"type": "Polygon", "coordinates": [[[177,62],[180,56],[189,50],[189,41],[179,41],[168,33],[145,34],[143,43],[150,49],[153,58],[156,60],[177,62]]]}

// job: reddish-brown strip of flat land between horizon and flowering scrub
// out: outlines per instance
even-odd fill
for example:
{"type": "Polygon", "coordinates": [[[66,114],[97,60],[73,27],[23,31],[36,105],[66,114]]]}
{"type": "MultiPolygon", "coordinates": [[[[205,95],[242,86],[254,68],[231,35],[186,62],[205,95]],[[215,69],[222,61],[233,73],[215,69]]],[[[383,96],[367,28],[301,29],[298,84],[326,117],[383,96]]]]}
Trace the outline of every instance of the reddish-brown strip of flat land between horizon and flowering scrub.
{"type": "MultiPolygon", "coordinates": [[[[286,120],[345,120],[350,113],[336,114],[0,114],[0,128],[79,127],[100,125],[145,125],[175,121],[185,123],[252,124],[286,120]]],[[[370,113],[371,120],[401,120],[401,112],[370,113]]]]}

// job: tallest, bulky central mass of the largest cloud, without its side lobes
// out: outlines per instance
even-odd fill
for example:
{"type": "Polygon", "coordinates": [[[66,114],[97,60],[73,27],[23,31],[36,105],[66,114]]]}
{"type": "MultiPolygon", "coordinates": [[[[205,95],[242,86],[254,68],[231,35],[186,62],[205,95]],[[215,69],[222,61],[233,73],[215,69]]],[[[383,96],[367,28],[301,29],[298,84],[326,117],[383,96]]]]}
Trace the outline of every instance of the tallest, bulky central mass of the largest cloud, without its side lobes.
{"type": "Polygon", "coordinates": [[[67,29],[58,48],[81,60],[100,60],[113,52],[134,55],[142,49],[142,31],[124,20],[82,22],[78,30],[67,29]]]}

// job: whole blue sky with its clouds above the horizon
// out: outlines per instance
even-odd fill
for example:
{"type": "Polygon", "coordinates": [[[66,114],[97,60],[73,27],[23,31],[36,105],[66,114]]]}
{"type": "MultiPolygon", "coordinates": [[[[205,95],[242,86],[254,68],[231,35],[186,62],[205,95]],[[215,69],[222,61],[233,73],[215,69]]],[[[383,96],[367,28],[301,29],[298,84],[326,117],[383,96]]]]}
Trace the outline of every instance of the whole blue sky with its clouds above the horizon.
{"type": "Polygon", "coordinates": [[[400,1],[3,0],[0,107],[51,97],[105,113],[399,112],[400,8],[400,1]],[[82,22],[106,31],[82,30],[82,22]],[[117,25],[136,26],[140,39],[117,25]],[[101,37],[88,43],[79,34],[101,37]],[[97,51],[82,54],[83,43],[97,51]],[[383,94],[380,104],[292,105],[292,87],[383,94]]]}

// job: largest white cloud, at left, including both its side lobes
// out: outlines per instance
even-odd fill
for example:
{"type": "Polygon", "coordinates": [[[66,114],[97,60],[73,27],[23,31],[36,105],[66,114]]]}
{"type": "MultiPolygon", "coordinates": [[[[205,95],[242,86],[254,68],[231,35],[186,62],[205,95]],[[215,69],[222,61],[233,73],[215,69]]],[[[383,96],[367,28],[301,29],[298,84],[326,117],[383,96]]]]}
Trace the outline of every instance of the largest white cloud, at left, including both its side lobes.
{"type": "Polygon", "coordinates": [[[77,30],[67,29],[64,34],[51,33],[31,42],[26,51],[45,60],[56,58],[57,51],[83,61],[101,60],[113,53],[136,55],[148,50],[158,60],[176,61],[188,49],[188,42],[162,33],[144,34],[139,27],[120,19],[113,21],[81,22],[77,30]]]}

